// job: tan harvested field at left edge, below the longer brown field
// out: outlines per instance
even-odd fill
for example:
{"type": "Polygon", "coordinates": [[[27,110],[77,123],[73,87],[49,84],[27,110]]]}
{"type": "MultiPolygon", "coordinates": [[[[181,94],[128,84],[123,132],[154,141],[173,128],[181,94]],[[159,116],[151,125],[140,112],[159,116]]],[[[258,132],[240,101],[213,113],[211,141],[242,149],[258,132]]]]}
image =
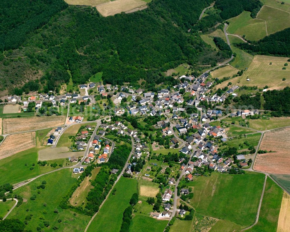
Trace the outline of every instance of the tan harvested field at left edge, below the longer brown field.
{"type": "Polygon", "coordinates": [[[8,135],[0,145],[0,159],[36,146],[35,132],[8,135]]]}

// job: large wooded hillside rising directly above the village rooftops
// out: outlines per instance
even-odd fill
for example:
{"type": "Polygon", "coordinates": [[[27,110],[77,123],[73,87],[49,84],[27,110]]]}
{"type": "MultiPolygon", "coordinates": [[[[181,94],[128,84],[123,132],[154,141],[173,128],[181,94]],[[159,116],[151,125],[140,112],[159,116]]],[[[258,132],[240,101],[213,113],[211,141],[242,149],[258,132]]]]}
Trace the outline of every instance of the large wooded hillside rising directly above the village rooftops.
{"type": "Polygon", "coordinates": [[[66,70],[75,84],[99,71],[112,84],[135,83],[140,78],[148,84],[160,83],[164,82],[161,72],[182,62],[222,61],[222,54],[198,33],[187,33],[188,25],[196,23],[208,5],[202,0],[156,0],[146,10],[110,17],[101,17],[95,8],[70,6],[31,34],[23,48],[5,53],[0,64],[2,87],[12,88],[11,83],[28,79],[27,70],[35,70],[35,76],[43,73],[39,86],[44,90],[68,82],[66,70]]]}

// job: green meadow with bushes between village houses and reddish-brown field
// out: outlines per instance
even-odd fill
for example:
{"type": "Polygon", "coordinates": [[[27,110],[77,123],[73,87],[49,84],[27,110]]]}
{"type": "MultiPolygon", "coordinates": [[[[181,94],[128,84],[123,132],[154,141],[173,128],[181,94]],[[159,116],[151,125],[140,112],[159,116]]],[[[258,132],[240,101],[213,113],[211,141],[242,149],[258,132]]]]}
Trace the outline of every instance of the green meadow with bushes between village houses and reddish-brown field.
{"type": "Polygon", "coordinates": [[[250,145],[252,146],[257,146],[259,143],[259,140],[261,138],[261,133],[255,133],[255,134],[248,134],[247,137],[242,137],[239,139],[232,139],[229,141],[226,141],[226,145],[221,146],[221,149],[224,148],[232,148],[232,147],[236,147],[239,150],[244,150],[244,149],[248,149],[249,146],[247,146],[246,144],[244,144],[245,141],[248,141],[250,145]]]}

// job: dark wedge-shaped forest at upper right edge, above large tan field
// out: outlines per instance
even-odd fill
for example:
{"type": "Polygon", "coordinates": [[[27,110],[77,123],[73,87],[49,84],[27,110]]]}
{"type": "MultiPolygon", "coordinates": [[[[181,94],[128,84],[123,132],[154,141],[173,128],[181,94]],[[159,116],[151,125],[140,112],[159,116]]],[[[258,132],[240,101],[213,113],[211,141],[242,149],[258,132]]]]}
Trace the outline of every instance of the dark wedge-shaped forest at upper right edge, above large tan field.
{"type": "Polygon", "coordinates": [[[290,28],[268,35],[256,42],[241,43],[236,46],[248,53],[260,55],[290,56],[290,28]]]}

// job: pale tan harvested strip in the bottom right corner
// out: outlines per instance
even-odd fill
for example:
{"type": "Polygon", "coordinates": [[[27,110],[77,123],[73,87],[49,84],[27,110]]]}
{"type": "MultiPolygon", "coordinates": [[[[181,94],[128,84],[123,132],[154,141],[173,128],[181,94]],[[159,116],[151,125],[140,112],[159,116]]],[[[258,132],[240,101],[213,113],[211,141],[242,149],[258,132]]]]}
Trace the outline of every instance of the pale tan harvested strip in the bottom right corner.
{"type": "Polygon", "coordinates": [[[290,196],[284,192],[277,232],[290,232],[290,196]]]}

